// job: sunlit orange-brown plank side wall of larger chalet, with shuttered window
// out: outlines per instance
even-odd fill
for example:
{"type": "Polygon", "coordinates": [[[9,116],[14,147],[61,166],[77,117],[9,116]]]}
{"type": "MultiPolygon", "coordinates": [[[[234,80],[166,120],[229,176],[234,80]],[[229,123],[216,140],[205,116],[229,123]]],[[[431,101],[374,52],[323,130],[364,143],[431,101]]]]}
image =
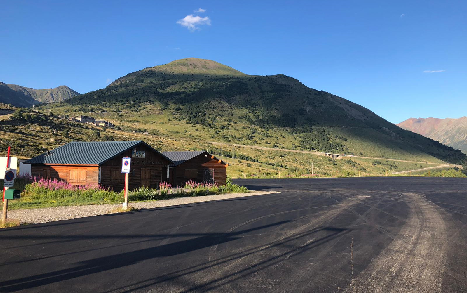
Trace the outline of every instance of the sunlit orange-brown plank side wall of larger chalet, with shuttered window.
{"type": "Polygon", "coordinates": [[[98,166],[77,166],[77,165],[34,165],[31,164],[31,175],[33,177],[43,177],[60,179],[75,185],[98,184],[98,166]],[[86,171],[86,182],[70,182],[70,171],[86,171]]]}

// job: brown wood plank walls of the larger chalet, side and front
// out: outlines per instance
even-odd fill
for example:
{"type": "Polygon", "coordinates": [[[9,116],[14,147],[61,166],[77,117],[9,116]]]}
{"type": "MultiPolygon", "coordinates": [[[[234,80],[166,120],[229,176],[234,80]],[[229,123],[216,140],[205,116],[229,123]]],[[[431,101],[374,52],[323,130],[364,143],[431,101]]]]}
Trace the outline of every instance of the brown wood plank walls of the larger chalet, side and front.
{"type": "MultiPolygon", "coordinates": [[[[145,145],[136,147],[138,151],[144,151],[145,157],[132,157],[129,173],[129,190],[141,186],[141,168],[150,167],[150,186],[159,187],[161,181],[167,181],[167,161],[163,156],[149,149],[145,145]]],[[[100,185],[110,187],[115,191],[121,191],[125,184],[124,174],[121,173],[121,161],[123,157],[131,157],[133,150],[127,150],[100,166],[100,185]],[[113,175],[113,178],[111,176],[113,175]]],[[[83,165],[34,165],[31,164],[32,176],[44,178],[57,178],[76,185],[99,184],[99,167],[83,165]],[[70,182],[70,171],[86,171],[86,183],[70,182]]],[[[147,182],[147,180],[145,180],[147,182]]]]}

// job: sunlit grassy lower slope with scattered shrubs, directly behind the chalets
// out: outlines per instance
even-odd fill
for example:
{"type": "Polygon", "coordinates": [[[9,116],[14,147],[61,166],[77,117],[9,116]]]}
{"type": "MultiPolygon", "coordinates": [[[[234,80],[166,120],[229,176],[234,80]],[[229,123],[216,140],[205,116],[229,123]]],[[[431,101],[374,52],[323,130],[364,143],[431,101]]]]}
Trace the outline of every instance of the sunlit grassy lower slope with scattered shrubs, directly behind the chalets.
{"type": "MultiPolygon", "coordinates": [[[[421,166],[436,165],[429,162],[399,162],[356,157],[332,160],[325,156],[295,153],[281,149],[257,150],[229,145],[217,146],[198,139],[198,134],[202,130],[198,129],[198,126],[190,126],[186,123],[184,127],[187,132],[183,131],[182,135],[174,135],[176,130],[171,128],[173,126],[171,121],[163,122],[163,124],[157,123],[159,129],[172,131],[171,135],[149,129],[149,134],[145,134],[132,132],[132,129],[136,128],[104,129],[59,119],[50,114],[50,107],[53,107],[54,113],[57,113],[56,110],[62,109],[63,105],[48,105],[46,107],[48,108],[41,110],[42,113],[22,109],[21,116],[13,114],[12,110],[18,110],[16,108],[0,107],[0,114],[4,114],[0,116],[0,156],[6,155],[7,146],[12,147],[12,156],[23,159],[36,156],[71,141],[142,139],[156,149],[163,151],[209,150],[230,164],[227,173],[235,178],[309,176],[311,162],[314,163],[315,173],[320,176],[335,176],[336,171],[338,176],[353,176],[354,171],[357,175],[359,172],[361,175],[384,175],[386,170],[388,172],[405,171],[420,169],[421,166]]],[[[97,117],[96,113],[92,113],[92,115],[97,117]]]]}

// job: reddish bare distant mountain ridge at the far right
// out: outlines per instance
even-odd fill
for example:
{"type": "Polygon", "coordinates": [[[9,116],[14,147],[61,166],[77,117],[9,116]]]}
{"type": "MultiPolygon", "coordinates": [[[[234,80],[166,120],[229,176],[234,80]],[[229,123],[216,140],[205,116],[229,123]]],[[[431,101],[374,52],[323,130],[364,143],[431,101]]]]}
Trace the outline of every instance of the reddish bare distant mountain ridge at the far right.
{"type": "Polygon", "coordinates": [[[460,118],[409,118],[396,124],[467,153],[467,116],[460,118]]]}

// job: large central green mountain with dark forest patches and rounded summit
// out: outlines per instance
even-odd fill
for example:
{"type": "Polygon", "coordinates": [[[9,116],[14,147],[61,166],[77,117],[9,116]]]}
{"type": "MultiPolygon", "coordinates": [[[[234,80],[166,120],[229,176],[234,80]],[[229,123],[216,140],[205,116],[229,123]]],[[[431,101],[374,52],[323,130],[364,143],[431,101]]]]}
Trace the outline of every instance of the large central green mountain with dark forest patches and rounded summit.
{"type": "Polygon", "coordinates": [[[176,136],[186,127],[183,123],[190,123],[201,127],[196,135],[204,140],[368,157],[438,158],[453,164],[464,164],[466,159],[459,150],[397,127],[365,107],[304,86],[297,79],[283,74],[247,75],[197,58],[132,72],[67,103],[83,113],[112,109],[115,115],[107,117],[117,125],[132,121],[167,135],[170,130],[154,125],[161,114],[169,114],[171,125],[182,121],[171,130],[176,136]],[[122,111],[127,114],[121,115],[122,111]]]}

